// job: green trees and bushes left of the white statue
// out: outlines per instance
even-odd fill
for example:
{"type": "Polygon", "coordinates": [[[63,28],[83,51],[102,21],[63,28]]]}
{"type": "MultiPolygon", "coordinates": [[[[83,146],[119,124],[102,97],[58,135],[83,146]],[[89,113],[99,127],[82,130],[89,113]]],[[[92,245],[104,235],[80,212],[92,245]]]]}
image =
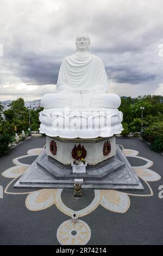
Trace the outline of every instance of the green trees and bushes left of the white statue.
{"type": "Polygon", "coordinates": [[[3,111],[0,104],[0,155],[9,150],[9,143],[15,141],[15,134],[21,135],[22,131],[29,134],[29,130],[39,130],[39,112],[43,108],[28,109],[24,100],[19,98],[10,103],[10,108],[3,111]]]}

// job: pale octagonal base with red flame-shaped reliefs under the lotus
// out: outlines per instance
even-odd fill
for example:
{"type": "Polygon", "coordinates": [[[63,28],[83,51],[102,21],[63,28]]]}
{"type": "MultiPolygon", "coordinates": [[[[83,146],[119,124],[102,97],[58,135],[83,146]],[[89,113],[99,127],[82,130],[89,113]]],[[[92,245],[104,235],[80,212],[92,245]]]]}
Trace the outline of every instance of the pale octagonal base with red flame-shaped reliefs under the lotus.
{"type": "Polygon", "coordinates": [[[72,150],[75,145],[78,147],[79,144],[86,150],[86,156],[84,158],[89,165],[95,165],[116,155],[115,136],[93,139],[66,139],[47,136],[46,154],[62,164],[71,164],[74,160],[72,150]],[[106,145],[109,145],[109,147],[106,147],[106,145]]]}

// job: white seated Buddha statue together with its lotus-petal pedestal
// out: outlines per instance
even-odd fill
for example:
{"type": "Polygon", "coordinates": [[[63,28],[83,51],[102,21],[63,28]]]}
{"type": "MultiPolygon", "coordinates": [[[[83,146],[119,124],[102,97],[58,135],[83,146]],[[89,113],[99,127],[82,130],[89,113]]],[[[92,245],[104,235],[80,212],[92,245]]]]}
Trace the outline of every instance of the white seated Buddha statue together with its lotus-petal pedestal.
{"type": "Polygon", "coordinates": [[[89,52],[89,36],[79,34],[76,48],[75,54],[62,60],[55,92],[42,97],[40,133],[62,138],[109,137],[121,133],[123,114],[118,111],[121,99],[108,93],[104,64],[89,52]]]}

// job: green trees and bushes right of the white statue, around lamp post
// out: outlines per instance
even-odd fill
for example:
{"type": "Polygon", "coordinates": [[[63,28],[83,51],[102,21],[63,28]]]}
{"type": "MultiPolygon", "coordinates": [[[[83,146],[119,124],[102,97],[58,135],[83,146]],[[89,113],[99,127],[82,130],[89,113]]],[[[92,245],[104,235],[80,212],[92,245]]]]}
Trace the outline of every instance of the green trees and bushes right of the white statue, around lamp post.
{"type": "Polygon", "coordinates": [[[120,111],[123,112],[123,136],[141,132],[145,141],[152,144],[155,151],[162,150],[163,135],[163,96],[145,95],[134,99],[121,98],[120,111]],[[143,107],[143,117],[142,109],[143,107]]]}

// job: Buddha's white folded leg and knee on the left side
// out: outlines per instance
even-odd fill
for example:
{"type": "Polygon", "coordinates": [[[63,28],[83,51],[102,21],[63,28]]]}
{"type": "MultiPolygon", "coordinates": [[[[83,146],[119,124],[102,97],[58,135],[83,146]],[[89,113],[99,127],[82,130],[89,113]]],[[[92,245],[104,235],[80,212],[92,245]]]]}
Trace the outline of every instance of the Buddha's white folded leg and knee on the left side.
{"type": "Polygon", "coordinates": [[[44,108],[64,108],[72,106],[72,94],[48,93],[43,95],[41,106],[44,108]]]}

